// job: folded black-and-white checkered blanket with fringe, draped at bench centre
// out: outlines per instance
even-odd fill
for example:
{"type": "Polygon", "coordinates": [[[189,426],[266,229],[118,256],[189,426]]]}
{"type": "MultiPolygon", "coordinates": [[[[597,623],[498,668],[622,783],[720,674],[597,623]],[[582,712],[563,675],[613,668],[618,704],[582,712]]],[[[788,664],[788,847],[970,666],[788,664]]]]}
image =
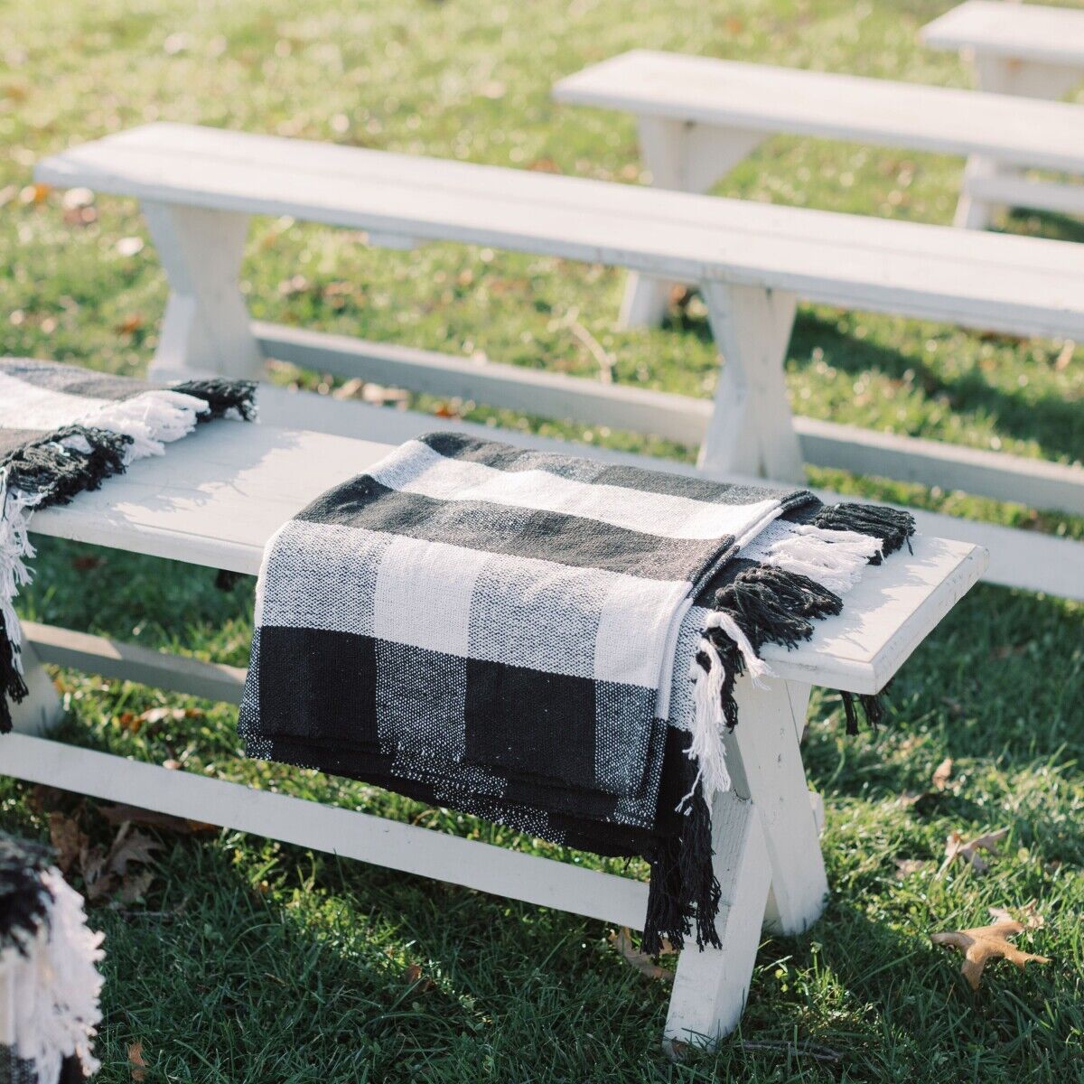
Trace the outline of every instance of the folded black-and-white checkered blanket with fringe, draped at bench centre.
{"type": "Polygon", "coordinates": [[[712,795],[761,647],[837,614],[911,517],[409,441],[268,543],[240,732],[315,767],[651,866],[645,945],[718,944],[712,795]]]}

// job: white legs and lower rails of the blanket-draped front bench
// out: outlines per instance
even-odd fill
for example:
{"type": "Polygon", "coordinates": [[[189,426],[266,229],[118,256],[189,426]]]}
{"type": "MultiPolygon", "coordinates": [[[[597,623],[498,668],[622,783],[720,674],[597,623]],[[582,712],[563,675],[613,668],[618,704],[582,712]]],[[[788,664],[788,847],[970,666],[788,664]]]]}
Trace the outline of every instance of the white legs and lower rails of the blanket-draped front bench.
{"type": "MultiPolygon", "coordinates": [[[[36,737],[61,714],[42,661],[227,701],[240,699],[243,672],[40,625],[27,625],[27,640],[31,695],[16,708],[16,733],[0,738],[0,772],[620,925],[643,919],[646,886],[627,878],[36,737]]],[[[733,1031],[765,920],[780,933],[801,932],[827,894],[799,751],[809,686],[744,681],[736,695],[741,723],[727,738],[734,788],[717,796],[712,810],[722,949],[693,945],[679,957],[667,1043],[733,1031]]]]}

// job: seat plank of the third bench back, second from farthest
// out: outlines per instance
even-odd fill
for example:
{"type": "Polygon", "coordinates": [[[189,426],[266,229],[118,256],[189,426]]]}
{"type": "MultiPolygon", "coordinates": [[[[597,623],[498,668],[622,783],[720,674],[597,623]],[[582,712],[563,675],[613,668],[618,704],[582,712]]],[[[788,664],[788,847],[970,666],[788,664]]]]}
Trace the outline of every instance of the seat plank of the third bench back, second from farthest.
{"type": "Polygon", "coordinates": [[[1084,172],[1084,106],[1063,102],[653,50],[593,64],[557,82],[554,96],[638,116],[1084,172]]]}

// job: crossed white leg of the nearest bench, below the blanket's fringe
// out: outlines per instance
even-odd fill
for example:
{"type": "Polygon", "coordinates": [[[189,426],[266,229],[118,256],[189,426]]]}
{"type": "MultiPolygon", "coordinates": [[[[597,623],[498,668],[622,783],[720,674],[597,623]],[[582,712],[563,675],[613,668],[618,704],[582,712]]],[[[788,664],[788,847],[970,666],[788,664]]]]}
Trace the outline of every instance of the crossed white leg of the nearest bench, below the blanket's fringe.
{"type": "Polygon", "coordinates": [[[808,685],[778,680],[765,688],[743,681],[736,691],[740,722],[726,739],[734,787],[717,796],[711,814],[723,947],[681,954],[664,1047],[730,1034],[749,995],[762,925],[801,933],[824,911],[828,880],[798,746],[809,695],[808,685]]]}

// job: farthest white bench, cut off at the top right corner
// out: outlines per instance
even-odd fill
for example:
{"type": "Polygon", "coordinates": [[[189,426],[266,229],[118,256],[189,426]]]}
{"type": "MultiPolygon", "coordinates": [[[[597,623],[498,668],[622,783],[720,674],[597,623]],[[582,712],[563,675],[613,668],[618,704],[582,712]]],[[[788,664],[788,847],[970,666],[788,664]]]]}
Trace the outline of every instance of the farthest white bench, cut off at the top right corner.
{"type": "MultiPolygon", "coordinates": [[[[958,51],[980,90],[1055,99],[1084,79],[1084,11],[968,0],[922,27],[921,38],[933,49],[958,51]]],[[[972,229],[986,225],[1003,204],[1084,214],[1079,186],[1029,182],[996,156],[968,158],[964,190],[956,224],[972,229]]]]}

